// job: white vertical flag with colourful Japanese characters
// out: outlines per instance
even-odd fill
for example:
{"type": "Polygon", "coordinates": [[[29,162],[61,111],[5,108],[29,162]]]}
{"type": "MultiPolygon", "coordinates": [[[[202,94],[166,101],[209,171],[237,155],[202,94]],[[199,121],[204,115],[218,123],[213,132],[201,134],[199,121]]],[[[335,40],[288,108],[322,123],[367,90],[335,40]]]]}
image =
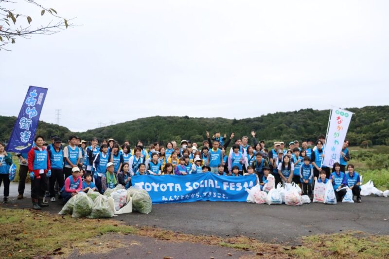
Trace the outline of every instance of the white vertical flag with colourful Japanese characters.
{"type": "Polygon", "coordinates": [[[347,110],[332,109],[322,165],[332,168],[335,162],[339,162],[340,152],[353,114],[347,110]]]}

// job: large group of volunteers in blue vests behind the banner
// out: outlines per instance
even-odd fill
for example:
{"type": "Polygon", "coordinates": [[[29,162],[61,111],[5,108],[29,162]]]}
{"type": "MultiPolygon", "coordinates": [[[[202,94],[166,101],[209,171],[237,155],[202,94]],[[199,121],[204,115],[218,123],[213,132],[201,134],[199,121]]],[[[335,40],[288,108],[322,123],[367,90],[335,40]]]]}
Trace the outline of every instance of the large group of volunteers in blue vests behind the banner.
{"type": "MultiPolygon", "coordinates": [[[[114,139],[99,140],[92,138],[88,143],[77,136],[70,136],[64,145],[58,136],[51,137],[51,144],[42,136],[36,136],[33,148],[28,153],[17,154],[19,158],[18,199],[23,199],[25,180],[31,178],[31,198],[33,208],[39,210],[48,206],[45,194],[50,201],[56,198],[64,202],[78,192],[89,190],[104,193],[107,188],[121,184],[131,187],[131,177],[138,175],[179,175],[213,173],[222,176],[244,177],[256,175],[257,184],[263,186],[272,174],[278,183],[295,182],[301,186],[303,194],[312,197],[314,183],[331,181],[337,199],[344,194],[343,187],[353,190],[356,201],[360,202],[360,178],[350,164],[350,142],[344,141],[340,161],[333,168],[323,166],[325,136],[318,136],[314,147],[302,141],[291,141],[288,148],[284,142],[274,142],[272,148],[265,147],[265,141],[257,141],[254,131],[249,138],[228,138],[215,132],[212,137],[206,132],[206,140],[201,144],[190,140],[155,142],[145,148],[142,141],[133,147],[129,141],[119,145],[114,139]],[[227,149],[233,142],[230,150],[227,149]],[[47,196],[47,195],[46,195],[47,196]]],[[[0,144],[0,184],[4,182],[4,202],[9,194],[7,165],[12,163],[10,155],[0,144]]]]}

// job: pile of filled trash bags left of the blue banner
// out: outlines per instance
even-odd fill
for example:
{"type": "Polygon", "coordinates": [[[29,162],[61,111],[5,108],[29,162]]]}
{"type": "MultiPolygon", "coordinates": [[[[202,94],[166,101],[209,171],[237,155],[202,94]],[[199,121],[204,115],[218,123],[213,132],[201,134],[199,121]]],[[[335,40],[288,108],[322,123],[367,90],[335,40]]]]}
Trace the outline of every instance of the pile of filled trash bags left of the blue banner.
{"type": "Polygon", "coordinates": [[[119,184],[114,189],[108,188],[104,194],[79,192],[69,199],[58,214],[71,214],[75,218],[111,218],[116,214],[130,213],[133,208],[140,213],[150,213],[150,195],[139,187],[125,190],[119,184]]]}

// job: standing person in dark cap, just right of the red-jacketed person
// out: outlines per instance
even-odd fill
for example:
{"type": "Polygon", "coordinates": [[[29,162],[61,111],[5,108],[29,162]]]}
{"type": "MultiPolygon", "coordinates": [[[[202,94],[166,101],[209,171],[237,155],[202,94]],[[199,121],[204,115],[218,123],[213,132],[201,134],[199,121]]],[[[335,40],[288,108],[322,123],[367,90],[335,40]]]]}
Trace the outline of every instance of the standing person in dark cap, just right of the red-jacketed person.
{"type": "Polygon", "coordinates": [[[60,138],[54,138],[54,146],[48,150],[52,166],[52,175],[49,178],[50,201],[55,201],[55,181],[57,181],[59,189],[64,186],[64,153],[61,149],[61,143],[60,138]]]}

